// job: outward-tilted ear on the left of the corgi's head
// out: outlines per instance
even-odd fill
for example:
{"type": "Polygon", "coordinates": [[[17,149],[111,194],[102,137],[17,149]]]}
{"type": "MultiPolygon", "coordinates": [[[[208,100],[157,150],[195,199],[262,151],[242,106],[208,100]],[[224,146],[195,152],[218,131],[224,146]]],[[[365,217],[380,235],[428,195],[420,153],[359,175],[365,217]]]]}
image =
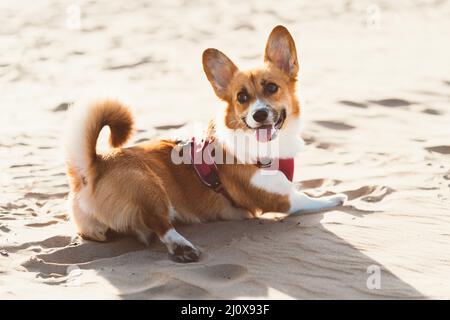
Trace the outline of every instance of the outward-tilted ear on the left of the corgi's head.
{"type": "Polygon", "coordinates": [[[238,68],[222,52],[217,49],[206,49],[203,52],[203,70],[216,95],[226,98],[227,88],[238,68]]]}

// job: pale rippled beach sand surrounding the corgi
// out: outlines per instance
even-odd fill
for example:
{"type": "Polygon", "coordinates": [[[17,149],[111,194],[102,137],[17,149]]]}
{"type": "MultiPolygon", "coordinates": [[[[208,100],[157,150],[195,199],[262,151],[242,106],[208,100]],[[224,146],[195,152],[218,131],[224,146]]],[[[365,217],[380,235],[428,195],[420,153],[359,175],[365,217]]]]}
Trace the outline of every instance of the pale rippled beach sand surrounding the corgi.
{"type": "Polygon", "coordinates": [[[450,298],[449,1],[73,3],[0,2],[0,298],[450,298]],[[193,264],[158,243],[77,238],[68,104],[131,104],[132,143],[182,135],[222,107],[202,51],[257,66],[276,24],[300,55],[295,181],[349,202],[183,226],[204,251],[193,264]]]}

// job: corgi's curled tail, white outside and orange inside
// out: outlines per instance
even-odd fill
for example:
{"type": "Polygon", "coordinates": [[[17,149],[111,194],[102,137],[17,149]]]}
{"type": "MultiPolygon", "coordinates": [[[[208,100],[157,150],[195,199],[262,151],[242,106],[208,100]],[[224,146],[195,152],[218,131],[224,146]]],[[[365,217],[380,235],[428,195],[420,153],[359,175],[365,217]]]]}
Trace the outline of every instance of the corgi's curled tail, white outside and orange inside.
{"type": "Polygon", "coordinates": [[[86,107],[72,108],[66,140],[66,162],[72,174],[85,177],[99,159],[96,146],[102,128],[109,126],[110,145],[120,147],[130,138],[134,122],[129,108],[116,100],[107,99],[86,107]]]}

